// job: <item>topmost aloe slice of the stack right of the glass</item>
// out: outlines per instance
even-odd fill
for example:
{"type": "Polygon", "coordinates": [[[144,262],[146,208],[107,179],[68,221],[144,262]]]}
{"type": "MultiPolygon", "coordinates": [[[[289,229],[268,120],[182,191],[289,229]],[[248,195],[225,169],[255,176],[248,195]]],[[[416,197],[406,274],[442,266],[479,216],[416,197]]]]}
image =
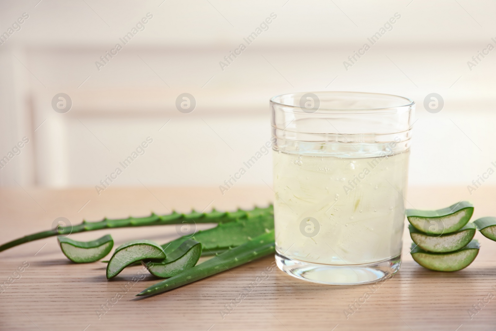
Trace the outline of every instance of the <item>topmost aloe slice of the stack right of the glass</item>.
{"type": "Polygon", "coordinates": [[[429,234],[447,234],[460,230],[474,213],[474,206],[460,201],[437,210],[407,209],[406,216],[417,230],[429,234]]]}

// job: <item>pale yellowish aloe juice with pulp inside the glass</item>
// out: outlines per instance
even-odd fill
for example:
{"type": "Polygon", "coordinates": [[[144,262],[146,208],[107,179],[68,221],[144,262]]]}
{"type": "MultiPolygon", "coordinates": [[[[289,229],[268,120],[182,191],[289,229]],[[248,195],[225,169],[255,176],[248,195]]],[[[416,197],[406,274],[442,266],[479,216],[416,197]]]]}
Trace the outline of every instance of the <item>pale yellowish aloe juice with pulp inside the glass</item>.
{"type": "Polygon", "coordinates": [[[409,151],[366,158],[273,151],[277,252],[323,265],[399,256],[408,157],[409,151]]]}

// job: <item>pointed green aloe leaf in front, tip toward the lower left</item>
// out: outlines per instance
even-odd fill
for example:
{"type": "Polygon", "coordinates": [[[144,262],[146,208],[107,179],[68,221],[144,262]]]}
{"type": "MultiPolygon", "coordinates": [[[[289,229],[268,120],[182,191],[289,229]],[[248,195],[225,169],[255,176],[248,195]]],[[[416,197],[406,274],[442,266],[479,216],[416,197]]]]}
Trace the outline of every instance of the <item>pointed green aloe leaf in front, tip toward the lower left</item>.
{"type": "Polygon", "coordinates": [[[247,243],[195,265],[171,278],[163,280],[136,294],[146,296],[170,291],[216,273],[274,254],[274,230],[264,233],[247,243]]]}

